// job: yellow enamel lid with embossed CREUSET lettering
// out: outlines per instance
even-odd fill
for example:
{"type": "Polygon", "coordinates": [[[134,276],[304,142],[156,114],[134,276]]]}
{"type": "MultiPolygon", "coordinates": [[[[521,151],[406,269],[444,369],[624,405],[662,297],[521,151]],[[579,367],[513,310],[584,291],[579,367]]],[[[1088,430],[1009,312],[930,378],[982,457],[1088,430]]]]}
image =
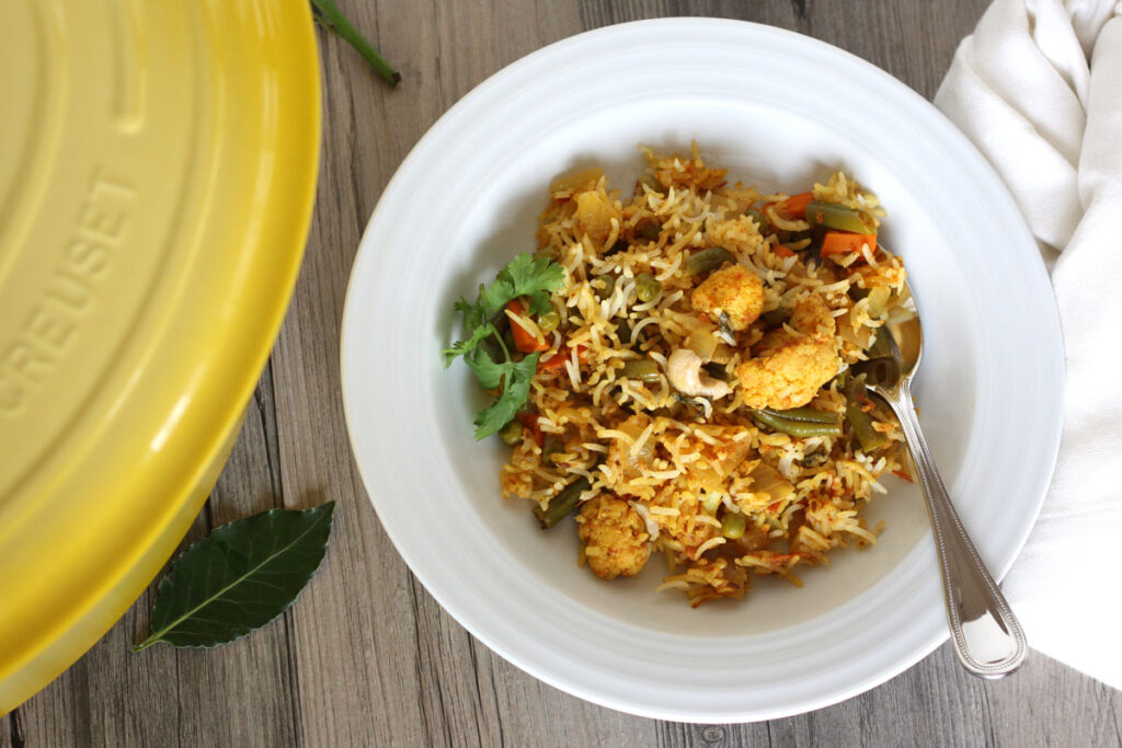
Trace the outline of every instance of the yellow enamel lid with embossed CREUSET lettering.
{"type": "Polygon", "coordinates": [[[292,293],[307,0],[0,3],[0,714],[197,514],[292,293]]]}

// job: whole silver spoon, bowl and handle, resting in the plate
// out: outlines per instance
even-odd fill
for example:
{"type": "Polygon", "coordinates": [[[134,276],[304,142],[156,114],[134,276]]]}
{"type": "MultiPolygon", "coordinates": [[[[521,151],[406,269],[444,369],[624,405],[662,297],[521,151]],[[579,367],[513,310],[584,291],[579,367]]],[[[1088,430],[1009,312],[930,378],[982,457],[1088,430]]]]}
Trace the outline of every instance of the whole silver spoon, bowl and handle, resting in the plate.
{"type": "MultiPolygon", "coordinates": [[[[914,299],[907,284],[901,301],[901,308],[914,311],[914,299]]],[[[883,397],[896,414],[916,462],[939,555],[955,653],[974,675],[1003,677],[1024,661],[1028,643],[1020,622],[966,534],[919,427],[911,397],[912,375],[923,350],[919,314],[890,316],[884,326],[890,333],[885,338],[891,338],[892,355],[862,363],[858,370],[865,372],[868,389],[883,397]]]]}

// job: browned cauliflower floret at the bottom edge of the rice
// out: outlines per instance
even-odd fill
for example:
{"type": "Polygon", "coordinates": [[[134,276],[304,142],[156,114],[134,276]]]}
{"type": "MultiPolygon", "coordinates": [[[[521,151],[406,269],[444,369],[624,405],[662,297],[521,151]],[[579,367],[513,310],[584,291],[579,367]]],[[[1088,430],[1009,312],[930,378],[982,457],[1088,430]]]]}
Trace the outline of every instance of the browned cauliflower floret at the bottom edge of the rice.
{"type": "Polygon", "coordinates": [[[577,516],[585,558],[601,579],[634,576],[651,555],[651,536],[643,518],[623,499],[600,493],[577,516]]]}

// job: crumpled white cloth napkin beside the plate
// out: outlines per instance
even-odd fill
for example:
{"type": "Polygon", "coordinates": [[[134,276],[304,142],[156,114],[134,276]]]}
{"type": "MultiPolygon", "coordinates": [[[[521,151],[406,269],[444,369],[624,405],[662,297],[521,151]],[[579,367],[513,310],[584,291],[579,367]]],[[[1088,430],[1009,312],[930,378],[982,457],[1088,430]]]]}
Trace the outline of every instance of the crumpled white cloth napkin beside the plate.
{"type": "Polygon", "coordinates": [[[1003,589],[1032,647],[1122,689],[1122,2],[995,0],[935,103],[1040,242],[1067,350],[1056,475],[1003,589]]]}

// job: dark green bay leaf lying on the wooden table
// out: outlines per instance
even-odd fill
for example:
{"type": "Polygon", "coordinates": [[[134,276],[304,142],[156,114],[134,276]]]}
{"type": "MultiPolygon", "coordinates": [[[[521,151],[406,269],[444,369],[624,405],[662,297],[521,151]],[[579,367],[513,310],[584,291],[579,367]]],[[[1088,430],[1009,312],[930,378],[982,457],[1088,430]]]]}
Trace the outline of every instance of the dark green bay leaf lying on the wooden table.
{"type": "Polygon", "coordinates": [[[175,647],[215,647],[283,613],[323,561],[335,502],[270,509],[222,525],[184,551],[160,581],[151,635],[175,647]]]}

